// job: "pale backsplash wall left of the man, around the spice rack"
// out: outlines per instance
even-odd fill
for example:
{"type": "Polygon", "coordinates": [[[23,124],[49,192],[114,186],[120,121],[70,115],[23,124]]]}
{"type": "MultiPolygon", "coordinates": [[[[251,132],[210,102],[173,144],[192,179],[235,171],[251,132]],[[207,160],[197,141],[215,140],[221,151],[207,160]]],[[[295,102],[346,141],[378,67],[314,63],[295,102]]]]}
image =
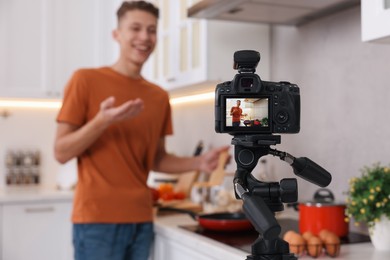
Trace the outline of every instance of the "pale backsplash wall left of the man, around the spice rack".
{"type": "MultiPolygon", "coordinates": [[[[39,171],[36,173],[39,176],[39,184],[43,187],[54,187],[59,166],[53,156],[57,111],[31,108],[10,108],[7,111],[8,117],[0,117],[0,188],[6,186],[6,158],[10,151],[21,155],[37,153],[39,163],[33,171],[39,171]]],[[[28,160],[26,162],[28,163],[28,160]]],[[[23,166],[20,165],[20,170],[23,166]]]]}

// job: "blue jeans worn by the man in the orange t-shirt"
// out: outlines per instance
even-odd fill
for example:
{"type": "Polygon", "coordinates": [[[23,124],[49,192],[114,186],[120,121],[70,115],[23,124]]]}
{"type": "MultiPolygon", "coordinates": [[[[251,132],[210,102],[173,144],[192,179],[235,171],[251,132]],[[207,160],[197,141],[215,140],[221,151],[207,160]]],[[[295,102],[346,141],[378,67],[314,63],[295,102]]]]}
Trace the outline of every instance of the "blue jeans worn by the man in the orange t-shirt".
{"type": "Polygon", "coordinates": [[[147,260],[153,223],[73,224],[75,260],[147,260]]]}

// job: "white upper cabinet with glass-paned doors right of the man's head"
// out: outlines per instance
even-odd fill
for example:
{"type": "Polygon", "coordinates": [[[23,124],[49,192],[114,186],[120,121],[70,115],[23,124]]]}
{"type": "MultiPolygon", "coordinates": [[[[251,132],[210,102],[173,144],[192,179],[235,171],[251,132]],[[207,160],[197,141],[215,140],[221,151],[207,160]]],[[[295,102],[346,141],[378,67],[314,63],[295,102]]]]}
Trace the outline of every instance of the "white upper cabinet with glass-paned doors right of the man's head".
{"type": "Polygon", "coordinates": [[[233,54],[253,49],[261,54],[257,73],[269,78],[269,26],[188,18],[198,1],[159,0],[158,43],[144,75],[171,93],[201,92],[231,80],[233,54]]]}

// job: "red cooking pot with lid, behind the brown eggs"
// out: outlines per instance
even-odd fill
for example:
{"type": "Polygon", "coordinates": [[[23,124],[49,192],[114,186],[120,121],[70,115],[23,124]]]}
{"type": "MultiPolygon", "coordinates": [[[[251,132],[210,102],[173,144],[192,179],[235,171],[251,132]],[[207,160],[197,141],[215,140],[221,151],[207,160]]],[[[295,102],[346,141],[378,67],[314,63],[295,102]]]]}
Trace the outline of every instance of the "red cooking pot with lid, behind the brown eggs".
{"type": "Polygon", "coordinates": [[[345,237],[349,232],[345,221],[346,205],[334,202],[334,195],[329,189],[319,189],[314,194],[314,200],[299,203],[299,231],[318,235],[323,229],[332,231],[339,237],[345,237]]]}

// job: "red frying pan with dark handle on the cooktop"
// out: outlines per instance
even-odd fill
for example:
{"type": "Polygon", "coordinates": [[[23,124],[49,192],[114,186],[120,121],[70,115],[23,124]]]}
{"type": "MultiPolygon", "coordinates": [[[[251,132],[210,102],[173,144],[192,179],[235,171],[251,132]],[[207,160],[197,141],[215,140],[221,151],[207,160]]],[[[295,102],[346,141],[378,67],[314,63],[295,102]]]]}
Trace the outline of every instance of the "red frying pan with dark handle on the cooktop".
{"type": "Polygon", "coordinates": [[[212,214],[197,214],[190,210],[173,207],[161,207],[159,210],[175,211],[189,214],[198,224],[208,230],[213,231],[244,231],[253,229],[251,222],[241,212],[221,212],[212,214]]]}

